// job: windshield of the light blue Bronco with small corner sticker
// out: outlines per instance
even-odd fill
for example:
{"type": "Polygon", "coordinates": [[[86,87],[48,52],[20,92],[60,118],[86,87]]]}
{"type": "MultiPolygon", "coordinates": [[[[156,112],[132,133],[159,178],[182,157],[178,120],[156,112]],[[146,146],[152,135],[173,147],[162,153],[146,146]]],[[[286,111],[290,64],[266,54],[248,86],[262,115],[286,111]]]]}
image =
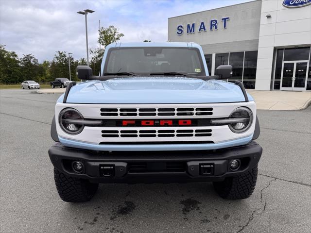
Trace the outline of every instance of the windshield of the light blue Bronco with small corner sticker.
{"type": "Polygon", "coordinates": [[[197,48],[130,47],[109,49],[104,73],[135,74],[178,72],[205,75],[197,48]]]}

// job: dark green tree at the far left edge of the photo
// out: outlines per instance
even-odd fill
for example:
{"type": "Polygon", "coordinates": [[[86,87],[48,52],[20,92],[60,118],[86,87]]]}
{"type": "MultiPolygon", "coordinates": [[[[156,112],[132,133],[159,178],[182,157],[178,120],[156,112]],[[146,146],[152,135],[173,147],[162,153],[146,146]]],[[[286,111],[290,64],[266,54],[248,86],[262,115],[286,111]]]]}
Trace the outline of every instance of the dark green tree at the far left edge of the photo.
{"type": "Polygon", "coordinates": [[[5,46],[0,45],[0,83],[9,84],[23,81],[17,54],[14,51],[5,50],[5,46]]]}

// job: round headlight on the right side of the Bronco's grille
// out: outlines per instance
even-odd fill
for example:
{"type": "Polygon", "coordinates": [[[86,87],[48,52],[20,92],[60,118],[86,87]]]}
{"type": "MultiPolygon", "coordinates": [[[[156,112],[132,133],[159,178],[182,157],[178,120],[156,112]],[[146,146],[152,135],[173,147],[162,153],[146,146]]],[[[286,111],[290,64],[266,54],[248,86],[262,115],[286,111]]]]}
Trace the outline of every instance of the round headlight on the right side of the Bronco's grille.
{"type": "Polygon", "coordinates": [[[235,109],[229,116],[231,119],[237,119],[237,122],[230,123],[229,128],[234,133],[242,133],[246,131],[253,122],[252,111],[245,107],[235,109]],[[239,120],[241,119],[241,120],[239,120]]]}

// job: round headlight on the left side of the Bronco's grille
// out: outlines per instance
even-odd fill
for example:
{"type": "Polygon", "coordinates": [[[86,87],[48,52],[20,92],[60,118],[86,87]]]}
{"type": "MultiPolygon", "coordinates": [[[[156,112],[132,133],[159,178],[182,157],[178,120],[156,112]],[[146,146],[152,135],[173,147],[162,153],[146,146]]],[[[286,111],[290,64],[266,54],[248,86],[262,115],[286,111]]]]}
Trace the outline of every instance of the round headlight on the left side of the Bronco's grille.
{"type": "Polygon", "coordinates": [[[73,108],[65,108],[59,114],[59,124],[66,133],[81,133],[84,125],[70,123],[70,120],[83,120],[82,114],[73,108]]]}

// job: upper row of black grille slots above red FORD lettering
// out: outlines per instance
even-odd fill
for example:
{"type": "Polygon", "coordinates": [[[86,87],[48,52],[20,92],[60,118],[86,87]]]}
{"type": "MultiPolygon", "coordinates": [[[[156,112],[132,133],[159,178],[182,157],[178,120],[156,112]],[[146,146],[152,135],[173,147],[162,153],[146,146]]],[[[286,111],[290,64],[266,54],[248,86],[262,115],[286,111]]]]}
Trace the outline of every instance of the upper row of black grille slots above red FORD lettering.
{"type": "Polygon", "coordinates": [[[101,116],[210,116],[213,108],[101,108],[101,116]]]}

